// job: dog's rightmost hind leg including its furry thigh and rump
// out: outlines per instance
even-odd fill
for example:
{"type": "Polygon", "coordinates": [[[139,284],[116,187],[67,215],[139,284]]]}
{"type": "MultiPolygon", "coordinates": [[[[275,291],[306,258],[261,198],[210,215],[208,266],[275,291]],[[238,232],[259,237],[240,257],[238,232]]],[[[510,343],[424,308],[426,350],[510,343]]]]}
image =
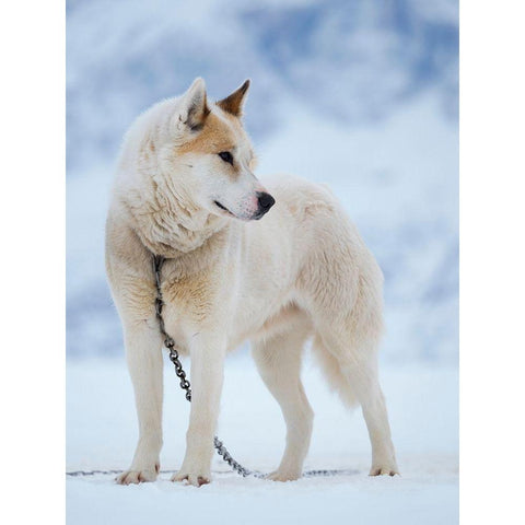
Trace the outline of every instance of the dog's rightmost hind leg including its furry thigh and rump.
{"type": "Polygon", "coordinates": [[[361,405],[372,445],[370,474],[397,474],[377,374],[383,276],[336,205],[315,221],[317,235],[298,278],[301,305],[314,322],[317,350],[329,352],[323,362],[328,380],[347,405],[361,405]]]}

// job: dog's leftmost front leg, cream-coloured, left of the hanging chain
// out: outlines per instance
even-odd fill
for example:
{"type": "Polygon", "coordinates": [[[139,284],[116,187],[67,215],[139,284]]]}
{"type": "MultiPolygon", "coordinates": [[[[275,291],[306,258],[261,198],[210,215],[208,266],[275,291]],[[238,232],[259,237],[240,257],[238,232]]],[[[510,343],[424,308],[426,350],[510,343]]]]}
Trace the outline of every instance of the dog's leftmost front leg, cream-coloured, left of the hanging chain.
{"type": "Polygon", "coordinates": [[[139,442],[128,470],[117,478],[120,485],[154,481],[162,447],[162,339],[159,328],[140,322],[125,327],[126,358],[135,389],[139,418],[139,442]]]}

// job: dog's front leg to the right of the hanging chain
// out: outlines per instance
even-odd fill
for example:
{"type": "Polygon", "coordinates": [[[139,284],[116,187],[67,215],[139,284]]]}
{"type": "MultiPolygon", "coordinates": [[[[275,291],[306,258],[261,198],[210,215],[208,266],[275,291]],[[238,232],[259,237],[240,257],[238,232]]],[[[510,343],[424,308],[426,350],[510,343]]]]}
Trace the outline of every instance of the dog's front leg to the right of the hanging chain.
{"type": "Polygon", "coordinates": [[[190,343],[191,411],[186,434],[186,455],[172,481],[187,480],[200,487],[211,480],[213,433],[219,417],[224,375],[225,341],[198,334],[190,343]]]}

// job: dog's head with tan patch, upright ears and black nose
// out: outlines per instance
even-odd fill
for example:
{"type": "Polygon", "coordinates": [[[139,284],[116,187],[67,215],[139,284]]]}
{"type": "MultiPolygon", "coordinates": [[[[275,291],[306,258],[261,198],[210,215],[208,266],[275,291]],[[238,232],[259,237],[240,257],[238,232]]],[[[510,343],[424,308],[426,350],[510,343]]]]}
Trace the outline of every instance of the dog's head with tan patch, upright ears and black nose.
{"type": "Polygon", "coordinates": [[[170,120],[164,173],[175,191],[212,214],[260,219],[275,203],[255,177],[255,154],[241,117],[249,80],[210,103],[202,79],[178,100],[170,120]]]}

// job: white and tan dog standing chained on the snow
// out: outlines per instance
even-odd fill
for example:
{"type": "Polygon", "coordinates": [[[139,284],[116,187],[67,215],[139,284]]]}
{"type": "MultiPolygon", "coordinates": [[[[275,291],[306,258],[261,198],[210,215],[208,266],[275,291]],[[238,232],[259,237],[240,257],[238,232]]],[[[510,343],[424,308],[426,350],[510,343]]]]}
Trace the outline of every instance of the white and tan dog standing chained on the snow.
{"type": "Polygon", "coordinates": [[[377,381],[381,270],[324,187],[288,176],[262,186],[255,177],[241,121],[248,86],[246,81],[210,103],[197,79],[183,96],[141,115],[122,144],[106,267],[140,436],[120,483],[153,481],[160,469],[163,339],[153,254],[166,258],[166,331],[191,358],[186,455],[173,480],[210,481],[224,357],[245,339],[287,422],[284,455],[270,479],[298,479],[308,450],[313,412],[300,369],[310,337],[330,385],[346,405],[362,407],[372,443],[370,474],[398,471],[377,381]]]}

